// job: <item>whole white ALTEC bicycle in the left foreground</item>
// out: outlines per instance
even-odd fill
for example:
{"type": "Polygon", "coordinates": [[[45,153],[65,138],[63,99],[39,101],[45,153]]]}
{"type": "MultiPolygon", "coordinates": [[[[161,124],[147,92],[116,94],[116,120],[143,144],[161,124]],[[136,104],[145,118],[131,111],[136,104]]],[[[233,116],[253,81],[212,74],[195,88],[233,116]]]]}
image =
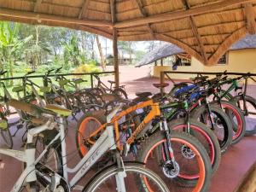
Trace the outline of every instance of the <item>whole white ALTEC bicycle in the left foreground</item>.
{"type": "MultiPolygon", "coordinates": [[[[90,170],[90,167],[95,165],[96,161],[108,151],[113,154],[114,165],[97,172],[88,183],[84,184],[82,191],[169,191],[161,178],[142,164],[136,162],[125,163],[122,160],[116,148],[112,125],[108,125],[106,131],[102,132],[101,137],[97,139],[84,158],[75,167],[69,168],[67,167],[65,143],[67,126],[64,119],[71,114],[71,111],[55,105],[39,108],[16,100],[11,100],[9,105],[30,113],[33,117],[38,117],[32,119],[34,121],[47,119],[47,122],[43,125],[28,131],[24,151],[0,149],[0,154],[12,156],[26,165],[11,192],[19,192],[24,188],[31,192],[69,192],[76,188],[76,184],[90,170]],[[58,119],[58,122],[56,119],[58,119]],[[44,146],[42,153],[37,156],[34,139],[44,131],[50,130],[56,130],[55,137],[44,146]],[[50,156],[55,161],[55,169],[47,165],[50,156]],[[68,180],[68,173],[75,173],[71,180],[68,180]]],[[[119,108],[121,107],[113,109],[113,112],[108,115],[108,122],[119,111],[119,108]]]]}

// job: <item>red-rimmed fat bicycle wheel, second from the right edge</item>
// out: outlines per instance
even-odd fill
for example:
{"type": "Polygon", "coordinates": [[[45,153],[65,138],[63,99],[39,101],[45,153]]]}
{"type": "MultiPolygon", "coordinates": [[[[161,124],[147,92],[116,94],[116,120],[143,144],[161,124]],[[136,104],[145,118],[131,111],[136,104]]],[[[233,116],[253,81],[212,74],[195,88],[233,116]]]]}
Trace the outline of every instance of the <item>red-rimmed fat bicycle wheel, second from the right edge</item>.
{"type": "MultiPolygon", "coordinates": [[[[216,104],[217,108],[219,107],[219,102],[213,102],[212,104],[216,104]]],[[[244,115],[241,112],[241,109],[237,108],[233,102],[220,101],[220,105],[224,109],[224,112],[229,116],[232,124],[232,144],[239,143],[242,137],[244,137],[247,127],[244,115]]]]}

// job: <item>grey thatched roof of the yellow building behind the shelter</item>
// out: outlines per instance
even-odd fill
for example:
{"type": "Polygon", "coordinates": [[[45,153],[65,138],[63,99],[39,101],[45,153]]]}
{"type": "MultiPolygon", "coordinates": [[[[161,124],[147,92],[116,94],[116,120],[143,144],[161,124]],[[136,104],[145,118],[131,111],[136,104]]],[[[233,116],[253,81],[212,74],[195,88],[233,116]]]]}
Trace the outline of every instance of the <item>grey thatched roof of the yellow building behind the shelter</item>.
{"type": "MultiPolygon", "coordinates": [[[[256,35],[247,35],[245,38],[242,38],[239,42],[230,47],[230,50],[236,49],[256,49],[256,35]]],[[[166,58],[167,56],[185,52],[185,50],[178,48],[175,44],[165,43],[144,55],[143,59],[137,63],[136,67],[142,67],[153,63],[154,61],[166,58]]]]}

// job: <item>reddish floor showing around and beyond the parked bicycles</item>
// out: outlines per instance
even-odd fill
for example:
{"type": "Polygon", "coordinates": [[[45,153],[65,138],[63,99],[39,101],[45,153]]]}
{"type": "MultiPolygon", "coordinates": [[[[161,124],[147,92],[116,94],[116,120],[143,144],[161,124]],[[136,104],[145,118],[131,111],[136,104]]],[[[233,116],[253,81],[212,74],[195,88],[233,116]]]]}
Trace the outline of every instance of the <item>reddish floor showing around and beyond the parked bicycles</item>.
{"type": "MultiPolygon", "coordinates": [[[[130,96],[134,96],[137,91],[153,91],[158,92],[152,83],[159,82],[159,79],[136,79],[131,82],[125,82],[127,84],[126,90],[130,96]]],[[[256,86],[249,86],[248,94],[256,97],[256,86]]],[[[170,89],[170,88],[169,88],[170,89]]],[[[72,153],[76,151],[75,148],[75,128],[76,123],[71,121],[69,125],[69,132],[67,136],[67,151],[72,153]]],[[[15,127],[11,128],[11,131],[15,131],[15,127]]],[[[20,148],[20,137],[22,131],[14,138],[15,149],[20,148]]],[[[0,140],[0,147],[3,146],[0,140]]],[[[69,156],[68,166],[73,167],[79,161],[79,154],[74,153],[69,156]]],[[[14,160],[8,156],[0,154],[0,192],[8,192],[15,180],[20,176],[21,164],[19,161],[14,160]]],[[[230,150],[223,155],[221,165],[218,172],[212,177],[211,192],[232,192],[236,188],[236,184],[241,180],[245,172],[256,161],[256,137],[244,137],[242,141],[235,146],[232,146],[230,150]]],[[[81,185],[86,183],[86,180],[90,178],[91,173],[84,177],[80,182],[81,185]]],[[[72,177],[72,176],[71,176],[72,177]]]]}

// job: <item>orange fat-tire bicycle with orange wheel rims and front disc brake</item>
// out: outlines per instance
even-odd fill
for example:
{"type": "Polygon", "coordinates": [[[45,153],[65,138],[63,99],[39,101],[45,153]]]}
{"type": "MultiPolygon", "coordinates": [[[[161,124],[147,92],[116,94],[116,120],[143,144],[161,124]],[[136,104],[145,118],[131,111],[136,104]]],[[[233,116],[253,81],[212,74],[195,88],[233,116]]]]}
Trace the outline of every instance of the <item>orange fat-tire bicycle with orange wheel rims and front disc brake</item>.
{"type": "MultiPolygon", "coordinates": [[[[87,154],[106,129],[108,124],[105,122],[100,112],[85,114],[80,119],[76,141],[81,156],[87,154]]],[[[212,169],[206,149],[187,133],[171,132],[165,117],[160,113],[159,103],[148,100],[125,108],[110,122],[122,154],[132,152],[137,161],[143,162],[169,183],[170,191],[207,191],[212,169]],[[131,123],[133,118],[124,119],[127,114],[143,108],[148,113],[139,125],[131,123]],[[148,135],[149,122],[154,119],[158,120],[160,129],[148,135]]]]}

